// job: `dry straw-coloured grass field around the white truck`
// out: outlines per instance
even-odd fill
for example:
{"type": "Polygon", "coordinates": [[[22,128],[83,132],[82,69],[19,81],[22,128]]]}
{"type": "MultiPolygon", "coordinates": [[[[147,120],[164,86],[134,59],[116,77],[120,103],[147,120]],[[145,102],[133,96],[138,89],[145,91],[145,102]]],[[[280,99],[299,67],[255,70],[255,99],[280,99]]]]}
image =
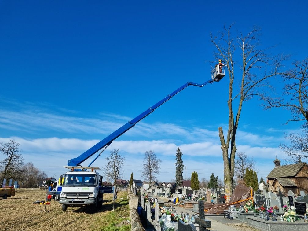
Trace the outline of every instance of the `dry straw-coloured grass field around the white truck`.
{"type": "Polygon", "coordinates": [[[52,200],[45,212],[45,205],[33,204],[45,200],[45,191],[16,191],[15,196],[0,199],[0,230],[130,230],[130,224],[121,225],[129,219],[126,197],[126,191],[118,192],[115,211],[111,211],[112,194],[106,193],[97,211],[90,207],[62,211],[61,204],[52,200]]]}

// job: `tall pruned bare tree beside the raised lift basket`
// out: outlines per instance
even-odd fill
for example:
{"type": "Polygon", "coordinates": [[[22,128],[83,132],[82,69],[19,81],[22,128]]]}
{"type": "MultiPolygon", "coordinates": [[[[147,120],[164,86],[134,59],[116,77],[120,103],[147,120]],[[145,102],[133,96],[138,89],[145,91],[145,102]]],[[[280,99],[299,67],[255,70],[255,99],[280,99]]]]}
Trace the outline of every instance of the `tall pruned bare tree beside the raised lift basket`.
{"type": "Polygon", "coordinates": [[[237,38],[231,35],[232,25],[225,27],[224,32],[217,36],[211,34],[211,42],[216,47],[214,53],[216,59],[221,59],[229,74],[229,96],[228,96],[228,130],[224,134],[222,127],[218,128],[221,142],[222,156],[224,160],[224,181],[227,202],[232,194],[232,183],[234,177],[234,159],[236,153],[236,132],[243,103],[254,95],[262,94],[263,88],[270,87],[268,79],[278,74],[282,61],[285,57],[271,58],[259,48],[257,39],[259,30],[254,28],[247,35],[239,34],[237,38]],[[239,49],[239,50],[237,50],[239,49]],[[237,53],[237,51],[239,51],[237,53]],[[237,54],[241,60],[237,62],[237,54]],[[236,66],[241,70],[237,77],[236,66]],[[263,74],[258,70],[265,68],[263,74]],[[269,70],[270,69],[270,70],[269,70]],[[236,78],[237,77],[237,78],[236,78]],[[235,81],[236,80],[236,81],[235,81]],[[234,86],[234,82],[238,84],[234,86]]]}

